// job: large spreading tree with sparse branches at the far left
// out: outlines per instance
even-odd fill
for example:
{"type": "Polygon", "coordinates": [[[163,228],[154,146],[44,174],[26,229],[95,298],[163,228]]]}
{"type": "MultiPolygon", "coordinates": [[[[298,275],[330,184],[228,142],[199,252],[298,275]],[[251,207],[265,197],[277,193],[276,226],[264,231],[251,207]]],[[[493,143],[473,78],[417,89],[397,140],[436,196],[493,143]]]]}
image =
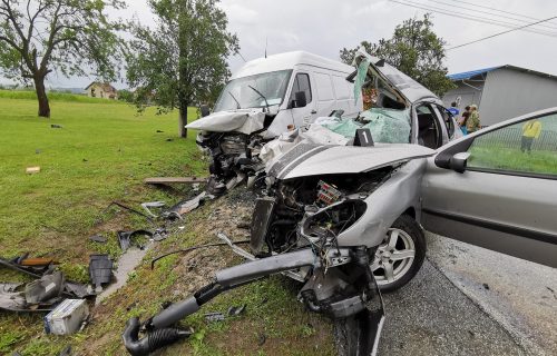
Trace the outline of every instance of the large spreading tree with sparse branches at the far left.
{"type": "Polygon", "coordinates": [[[118,72],[117,31],[108,8],[119,0],[0,0],[0,68],[3,75],[32,82],[39,116],[50,117],[45,88],[47,76],[95,75],[113,79],[118,72]]]}

